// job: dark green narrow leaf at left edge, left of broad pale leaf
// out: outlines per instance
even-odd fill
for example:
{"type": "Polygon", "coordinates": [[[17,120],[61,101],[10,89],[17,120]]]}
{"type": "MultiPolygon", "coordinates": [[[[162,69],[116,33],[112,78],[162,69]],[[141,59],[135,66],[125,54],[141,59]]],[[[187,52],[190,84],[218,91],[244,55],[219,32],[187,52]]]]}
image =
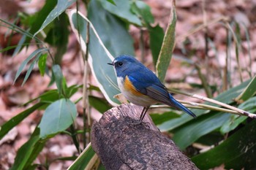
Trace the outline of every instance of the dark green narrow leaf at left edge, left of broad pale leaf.
{"type": "Polygon", "coordinates": [[[20,112],[15,117],[12,117],[10,120],[8,120],[6,123],[1,125],[0,127],[0,140],[6,135],[12,128],[14,128],[18,123],[20,123],[22,120],[24,120],[26,117],[28,117],[32,112],[37,110],[39,107],[44,106],[45,103],[39,102],[37,104],[34,104],[33,107],[29,107],[29,109],[24,110],[23,112],[20,112]]]}

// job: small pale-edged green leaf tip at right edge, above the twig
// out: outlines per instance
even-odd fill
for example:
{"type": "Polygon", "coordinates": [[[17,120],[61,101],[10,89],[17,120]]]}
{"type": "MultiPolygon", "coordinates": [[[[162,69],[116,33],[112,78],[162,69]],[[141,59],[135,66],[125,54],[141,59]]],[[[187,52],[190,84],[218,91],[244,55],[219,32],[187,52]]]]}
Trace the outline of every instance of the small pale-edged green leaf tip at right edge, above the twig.
{"type": "Polygon", "coordinates": [[[249,82],[249,85],[243,90],[243,92],[235,98],[238,102],[243,102],[255,96],[256,94],[256,75],[253,77],[252,81],[249,82]]]}

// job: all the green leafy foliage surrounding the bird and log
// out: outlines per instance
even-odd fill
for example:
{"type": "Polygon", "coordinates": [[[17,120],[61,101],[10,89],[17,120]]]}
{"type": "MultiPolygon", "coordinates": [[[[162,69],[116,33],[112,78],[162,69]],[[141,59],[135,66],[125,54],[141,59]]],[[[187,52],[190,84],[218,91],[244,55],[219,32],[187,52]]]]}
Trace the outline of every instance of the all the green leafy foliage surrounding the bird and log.
{"type": "MultiPolygon", "coordinates": [[[[35,158],[42,151],[45,142],[56,134],[71,135],[78,152],[80,152],[79,142],[77,141],[79,130],[74,128],[75,125],[72,125],[78,113],[75,101],[70,98],[82,85],[68,87],[61,69],[61,60],[67,51],[70,34],[74,33],[77,36],[83,53],[88,56],[86,60],[88,59],[91,73],[97,81],[97,87],[91,85],[87,90],[97,90],[105,97],[87,96],[89,106],[94,107],[101,113],[110,109],[111,105],[119,104],[119,101],[113,98],[113,96],[120,93],[116,75],[113,67],[107,63],[121,54],[135,54],[132,36],[128,32],[129,25],[147,29],[157,76],[162,82],[165,80],[165,74],[175,45],[176,9],[174,4],[170,11],[170,23],[168,23],[167,30],[164,32],[159,25],[153,26],[154,17],[151,14],[151,9],[143,1],[91,0],[89,4],[85,2],[88,11],[86,17],[76,9],[70,10],[67,14],[64,12],[75,2],[80,3],[80,1],[75,0],[45,1],[45,5],[36,14],[23,15],[20,22],[24,29],[0,19],[3,22],[1,26],[7,26],[12,31],[23,34],[18,45],[6,47],[1,49],[0,52],[15,48],[13,53],[13,57],[15,57],[23,47],[32,44],[38,47],[25,61],[20,63],[14,82],[18,80],[27,66],[28,69],[23,80],[24,84],[35,64],[38,64],[40,74],[42,76],[48,74],[51,77],[51,83],[55,83],[57,87],[55,90],[47,90],[42,95],[27,102],[26,104],[33,103],[34,105],[1,125],[0,139],[34,111],[45,110],[30,139],[18,150],[12,169],[36,169],[35,158]],[[72,32],[69,32],[70,26],[72,32]],[[31,39],[35,41],[31,42],[31,39]],[[48,47],[56,48],[56,53],[50,53],[48,47]],[[49,68],[46,64],[48,56],[52,60],[49,68]],[[49,69],[50,72],[48,72],[49,69]]],[[[238,25],[236,25],[236,31],[230,30],[228,33],[228,48],[231,45],[232,37],[237,39],[236,57],[239,65],[238,50],[240,48],[239,43],[241,43],[241,33],[238,25]]],[[[189,60],[184,62],[194,64],[189,60]]],[[[244,109],[247,112],[256,112],[255,83],[256,77],[220,93],[214,99],[244,109]],[[234,100],[234,98],[236,99],[234,100]]],[[[87,87],[87,85],[84,86],[87,87]]],[[[202,87],[203,85],[197,85],[197,88],[202,87]]],[[[209,102],[205,102],[205,104],[217,107],[217,104],[209,102]]],[[[200,169],[211,169],[222,163],[225,163],[227,169],[256,168],[255,163],[253,163],[253,160],[256,159],[255,154],[253,154],[255,150],[255,120],[247,123],[247,117],[207,109],[192,109],[192,112],[196,113],[197,119],[192,119],[192,117],[184,114],[178,115],[174,111],[163,114],[157,113],[151,115],[151,117],[160,131],[173,134],[173,141],[181,150],[186,150],[194,142],[217,145],[211,150],[192,158],[192,161],[200,169]],[[225,139],[224,136],[229,134],[232,135],[225,139]],[[223,142],[218,144],[221,141],[223,142]]],[[[84,128],[83,135],[86,131],[89,131],[89,129],[84,128]]],[[[59,158],[59,160],[65,160],[65,158],[59,158]]],[[[90,169],[91,164],[96,162],[97,157],[91,148],[91,144],[89,144],[69,169],[90,169]]]]}

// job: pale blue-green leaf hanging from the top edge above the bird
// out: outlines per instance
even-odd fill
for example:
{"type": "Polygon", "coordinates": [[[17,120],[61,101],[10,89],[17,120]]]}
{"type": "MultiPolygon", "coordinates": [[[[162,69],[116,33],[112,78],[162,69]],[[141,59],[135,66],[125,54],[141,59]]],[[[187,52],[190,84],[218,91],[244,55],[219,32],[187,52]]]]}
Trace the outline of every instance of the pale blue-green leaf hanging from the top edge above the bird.
{"type": "MultiPolygon", "coordinates": [[[[119,18],[122,18],[123,20],[126,20],[129,23],[133,23],[137,26],[142,26],[138,16],[132,13],[132,10],[131,10],[132,1],[118,0],[118,1],[115,1],[116,5],[110,4],[108,1],[105,1],[105,0],[99,0],[98,2],[97,1],[94,1],[94,2],[98,4],[102,4],[102,7],[104,7],[108,12],[112,13],[113,15],[116,15],[119,18]]],[[[94,2],[91,1],[91,3],[94,3],[94,2]]],[[[91,22],[93,22],[93,20],[91,20],[91,22]]]]}

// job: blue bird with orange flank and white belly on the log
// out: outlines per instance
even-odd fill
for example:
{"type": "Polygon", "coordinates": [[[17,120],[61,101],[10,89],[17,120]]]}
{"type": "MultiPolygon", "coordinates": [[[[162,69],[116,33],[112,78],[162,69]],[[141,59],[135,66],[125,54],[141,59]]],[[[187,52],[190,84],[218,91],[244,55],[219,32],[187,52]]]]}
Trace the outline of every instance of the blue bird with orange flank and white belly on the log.
{"type": "Polygon", "coordinates": [[[124,97],[132,104],[143,107],[139,123],[143,122],[143,118],[152,104],[167,104],[196,117],[192,111],[173,98],[154,72],[132,55],[119,55],[112,63],[108,64],[114,67],[118,88],[124,97]]]}

